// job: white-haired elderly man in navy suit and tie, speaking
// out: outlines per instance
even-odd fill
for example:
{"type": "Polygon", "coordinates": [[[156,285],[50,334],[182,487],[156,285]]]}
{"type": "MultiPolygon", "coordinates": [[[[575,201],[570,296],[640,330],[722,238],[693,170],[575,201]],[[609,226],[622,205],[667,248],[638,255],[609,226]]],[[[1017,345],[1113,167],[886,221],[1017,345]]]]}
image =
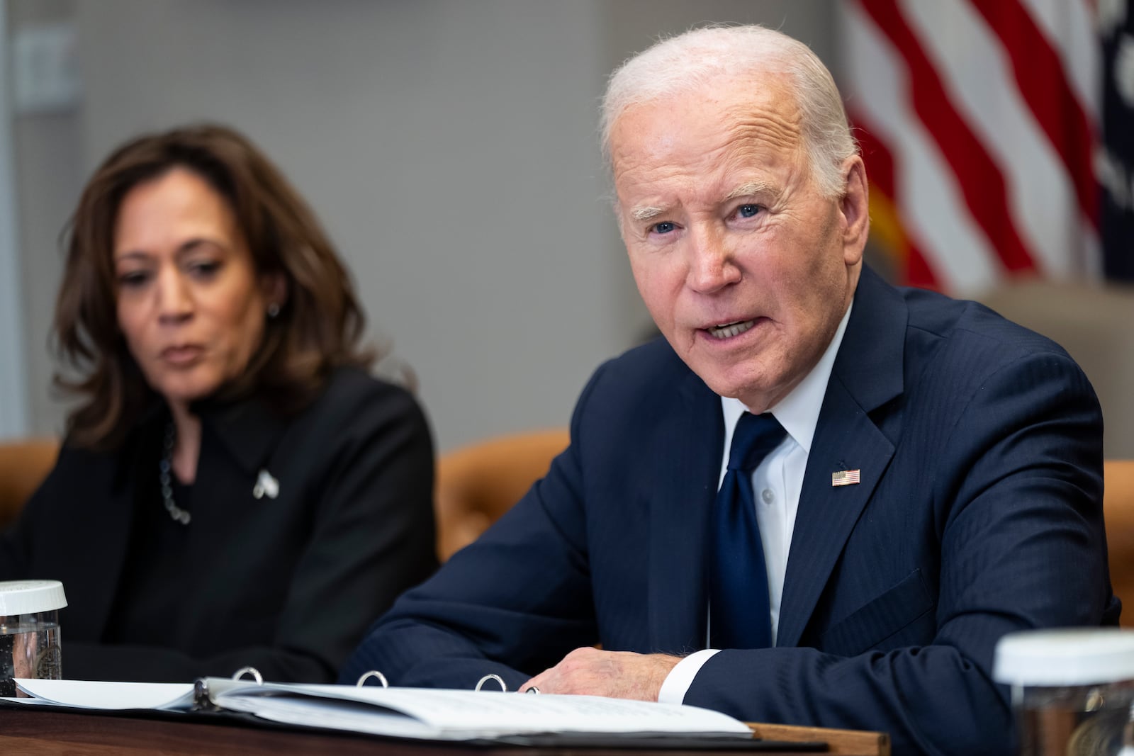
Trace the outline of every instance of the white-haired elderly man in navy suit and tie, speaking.
{"type": "Polygon", "coordinates": [[[863,160],[802,43],[693,31],[628,61],[603,107],[665,340],[599,368],[548,476],[344,679],[494,672],[885,730],[902,754],[1006,750],[997,639],[1117,622],[1083,373],[863,265],[863,160]]]}

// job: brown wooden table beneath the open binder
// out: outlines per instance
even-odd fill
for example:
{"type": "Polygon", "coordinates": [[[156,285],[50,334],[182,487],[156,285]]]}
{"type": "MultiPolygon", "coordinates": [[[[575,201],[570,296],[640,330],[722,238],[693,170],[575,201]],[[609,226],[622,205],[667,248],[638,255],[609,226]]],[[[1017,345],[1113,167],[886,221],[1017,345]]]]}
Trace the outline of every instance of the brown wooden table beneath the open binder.
{"type": "MultiPolygon", "coordinates": [[[[829,754],[845,756],[888,756],[889,742],[878,732],[753,725],[767,740],[822,740],[830,745],[829,754]]],[[[616,756],[644,754],[643,750],[619,748],[532,748],[519,746],[476,746],[460,742],[416,742],[375,738],[372,736],[311,731],[301,729],[249,727],[232,717],[202,719],[171,714],[159,717],[135,717],[59,711],[42,706],[0,707],[0,754],[91,755],[112,754],[210,754],[217,756],[263,754],[265,756],[324,755],[333,756],[425,756],[428,754],[474,753],[485,756],[507,754],[549,756],[616,756]]],[[[666,750],[665,754],[705,754],[705,750],[666,750]]],[[[717,750],[716,753],[725,753],[717,750]]],[[[788,751],[736,751],[769,756],[788,751]]]]}

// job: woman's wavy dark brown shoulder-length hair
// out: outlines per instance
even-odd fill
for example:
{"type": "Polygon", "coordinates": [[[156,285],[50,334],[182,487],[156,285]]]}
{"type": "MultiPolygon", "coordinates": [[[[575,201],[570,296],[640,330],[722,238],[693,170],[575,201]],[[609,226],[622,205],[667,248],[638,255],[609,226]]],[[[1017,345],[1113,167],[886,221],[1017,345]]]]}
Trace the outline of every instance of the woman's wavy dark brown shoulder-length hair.
{"type": "Polygon", "coordinates": [[[255,145],[217,125],[142,136],[95,171],[64,231],[67,264],[53,341],[75,376],[60,372],[54,380],[82,398],[67,419],[75,445],[118,447],[155,398],[118,326],[113,233],[126,194],[172,168],[198,175],[228,202],[257,275],[282,274],[287,286],[287,299],[266,321],[248,366],[213,398],[256,393],[294,411],[336,366],[374,360],[359,346],[365,316],[346,269],[314,213],[255,145]]]}

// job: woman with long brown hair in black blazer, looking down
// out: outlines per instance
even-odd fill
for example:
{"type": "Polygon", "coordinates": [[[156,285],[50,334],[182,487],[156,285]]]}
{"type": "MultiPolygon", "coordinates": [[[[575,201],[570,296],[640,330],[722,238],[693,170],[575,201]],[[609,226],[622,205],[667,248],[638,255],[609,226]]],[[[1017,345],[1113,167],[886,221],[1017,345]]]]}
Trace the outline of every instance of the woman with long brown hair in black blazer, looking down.
{"type": "Polygon", "coordinates": [[[362,331],[311,210],[239,134],[99,168],[54,322],[81,401],[0,538],[0,580],[64,581],[65,677],[330,681],[429,576],[429,428],[366,373],[362,331]]]}

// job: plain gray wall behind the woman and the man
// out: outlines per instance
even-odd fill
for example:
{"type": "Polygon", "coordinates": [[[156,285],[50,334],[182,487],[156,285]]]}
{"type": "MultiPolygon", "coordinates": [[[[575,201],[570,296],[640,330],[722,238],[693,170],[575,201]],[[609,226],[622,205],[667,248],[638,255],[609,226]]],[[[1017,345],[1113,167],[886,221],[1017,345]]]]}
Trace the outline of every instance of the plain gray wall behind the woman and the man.
{"type": "Polygon", "coordinates": [[[822,0],[10,0],[74,18],[84,103],[17,124],[33,430],[57,235],[116,144],[189,120],[260,143],[322,218],[439,447],[562,425],[649,332],[604,198],[596,103],[659,33],[759,20],[831,60],[822,0]]]}

